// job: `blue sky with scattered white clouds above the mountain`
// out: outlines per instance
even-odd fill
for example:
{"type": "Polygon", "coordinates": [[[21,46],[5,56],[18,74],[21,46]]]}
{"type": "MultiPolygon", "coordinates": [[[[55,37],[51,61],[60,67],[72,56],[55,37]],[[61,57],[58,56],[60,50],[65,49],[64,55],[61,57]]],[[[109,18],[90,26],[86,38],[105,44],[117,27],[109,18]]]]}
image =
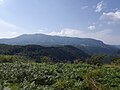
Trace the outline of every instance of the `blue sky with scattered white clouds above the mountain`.
{"type": "Polygon", "coordinates": [[[120,0],[0,0],[0,38],[21,34],[120,44],[120,0]]]}

